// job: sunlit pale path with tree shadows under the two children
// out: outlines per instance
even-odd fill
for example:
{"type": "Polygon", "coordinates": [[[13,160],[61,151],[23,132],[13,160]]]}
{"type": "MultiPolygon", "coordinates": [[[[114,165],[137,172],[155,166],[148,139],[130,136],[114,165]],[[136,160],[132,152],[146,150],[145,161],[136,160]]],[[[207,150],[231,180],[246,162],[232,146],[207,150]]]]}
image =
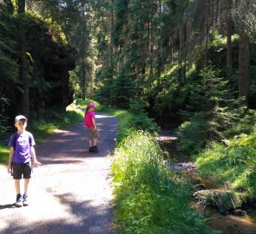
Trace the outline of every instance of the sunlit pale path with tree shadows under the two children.
{"type": "Polygon", "coordinates": [[[32,174],[29,206],[13,206],[14,182],[0,166],[0,233],[113,233],[111,157],[107,156],[115,149],[118,123],[108,114],[96,113],[96,120],[99,153],[88,152],[82,122],[56,131],[36,146],[43,165],[32,174]]]}

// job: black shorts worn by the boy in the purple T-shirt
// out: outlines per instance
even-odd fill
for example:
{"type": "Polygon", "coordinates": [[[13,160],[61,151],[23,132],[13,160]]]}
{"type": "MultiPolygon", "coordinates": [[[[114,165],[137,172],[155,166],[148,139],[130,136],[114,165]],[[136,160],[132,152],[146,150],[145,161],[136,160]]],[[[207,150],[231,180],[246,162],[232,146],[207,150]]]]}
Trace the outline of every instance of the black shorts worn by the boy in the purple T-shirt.
{"type": "Polygon", "coordinates": [[[31,162],[27,163],[12,163],[13,179],[30,179],[32,172],[31,162]]]}

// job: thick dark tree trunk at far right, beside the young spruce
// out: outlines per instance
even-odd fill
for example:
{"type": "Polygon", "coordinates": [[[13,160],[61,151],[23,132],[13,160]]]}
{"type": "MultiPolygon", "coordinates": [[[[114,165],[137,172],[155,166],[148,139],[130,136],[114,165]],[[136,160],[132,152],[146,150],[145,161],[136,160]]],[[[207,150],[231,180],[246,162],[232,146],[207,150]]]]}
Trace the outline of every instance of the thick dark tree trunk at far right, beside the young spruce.
{"type": "Polygon", "coordinates": [[[250,38],[245,30],[240,29],[240,55],[239,55],[239,97],[244,97],[243,104],[248,106],[250,91],[250,38]]]}

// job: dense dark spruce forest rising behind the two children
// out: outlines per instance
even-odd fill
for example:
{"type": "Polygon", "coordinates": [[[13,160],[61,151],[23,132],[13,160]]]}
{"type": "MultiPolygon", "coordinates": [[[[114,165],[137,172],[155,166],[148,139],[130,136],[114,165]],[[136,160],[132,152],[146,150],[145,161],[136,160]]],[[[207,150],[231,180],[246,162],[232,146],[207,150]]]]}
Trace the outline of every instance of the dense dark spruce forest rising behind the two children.
{"type": "Polygon", "coordinates": [[[253,118],[255,1],[0,5],[1,131],[18,113],[33,120],[76,97],[147,112],[162,127],[192,133],[199,146],[253,118]]]}

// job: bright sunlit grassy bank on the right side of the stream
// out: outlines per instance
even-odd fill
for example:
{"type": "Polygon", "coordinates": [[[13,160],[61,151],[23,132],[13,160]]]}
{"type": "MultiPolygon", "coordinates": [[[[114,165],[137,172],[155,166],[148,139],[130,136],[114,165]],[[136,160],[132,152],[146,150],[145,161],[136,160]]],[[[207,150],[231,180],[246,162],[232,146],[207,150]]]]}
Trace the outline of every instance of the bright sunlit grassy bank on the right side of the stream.
{"type": "Polygon", "coordinates": [[[256,132],[240,135],[229,146],[213,144],[196,159],[197,171],[205,179],[223,186],[226,181],[244,199],[256,198],[256,132]]]}

